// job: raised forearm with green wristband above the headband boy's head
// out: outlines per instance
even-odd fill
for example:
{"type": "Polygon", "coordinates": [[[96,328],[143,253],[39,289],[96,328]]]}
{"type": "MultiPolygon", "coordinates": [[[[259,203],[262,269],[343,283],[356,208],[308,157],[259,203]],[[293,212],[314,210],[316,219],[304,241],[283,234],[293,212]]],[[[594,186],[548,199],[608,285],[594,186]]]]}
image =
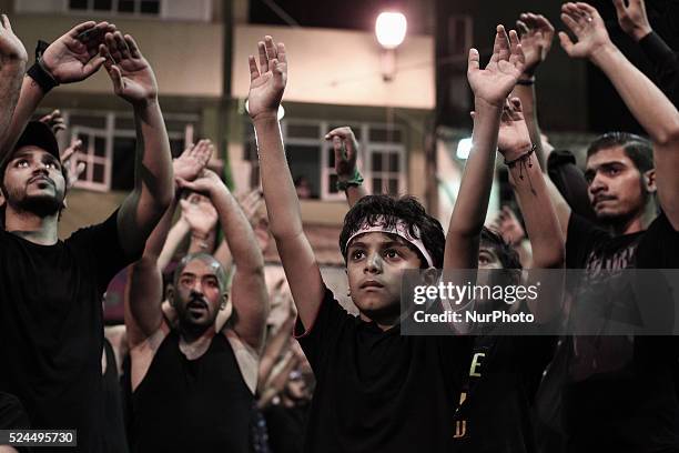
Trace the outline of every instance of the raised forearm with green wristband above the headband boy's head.
{"type": "Polygon", "coordinates": [[[352,208],[358,200],[367,195],[363,187],[363,175],[358,171],[358,142],[352,128],[343,127],[333,129],[325,135],[325,140],[332,140],[335,152],[335,172],[337,173],[337,187],[344,187],[346,201],[352,208]]]}

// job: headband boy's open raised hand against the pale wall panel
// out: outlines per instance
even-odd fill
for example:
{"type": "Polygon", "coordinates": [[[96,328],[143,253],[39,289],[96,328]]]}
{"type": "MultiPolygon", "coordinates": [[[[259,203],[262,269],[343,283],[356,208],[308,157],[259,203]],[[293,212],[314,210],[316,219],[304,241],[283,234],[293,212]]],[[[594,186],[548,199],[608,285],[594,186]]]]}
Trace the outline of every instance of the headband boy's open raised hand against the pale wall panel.
{"type": "Polygon", "coordinates": [[[274,44],[272,37],[264,37],[264,42],[257,43],[260,67],[253,56],[250,63],[250,93],[247,94],[247,111],[253,120],[257,118],[277,118],[278,105],[283,99],[287,81],[287,59],[285,44],[274,44]]]}

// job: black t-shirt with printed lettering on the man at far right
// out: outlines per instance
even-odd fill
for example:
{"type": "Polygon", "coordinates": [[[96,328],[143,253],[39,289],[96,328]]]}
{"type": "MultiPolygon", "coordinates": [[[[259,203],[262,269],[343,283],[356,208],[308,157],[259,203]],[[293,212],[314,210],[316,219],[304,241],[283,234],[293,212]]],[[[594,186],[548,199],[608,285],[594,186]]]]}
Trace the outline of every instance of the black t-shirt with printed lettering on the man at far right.
{"type": "MultiPolygon", "coordinates": [[[[571,214],[566,259],[569,268],[589,270],[679,268],[679,233],[665,214],[643,232],[615,238],[571,214]]],[[[569,450],[679,452],[677,338],[569,340],[561,348],[569,358],[561,370],[569,450]]]]}

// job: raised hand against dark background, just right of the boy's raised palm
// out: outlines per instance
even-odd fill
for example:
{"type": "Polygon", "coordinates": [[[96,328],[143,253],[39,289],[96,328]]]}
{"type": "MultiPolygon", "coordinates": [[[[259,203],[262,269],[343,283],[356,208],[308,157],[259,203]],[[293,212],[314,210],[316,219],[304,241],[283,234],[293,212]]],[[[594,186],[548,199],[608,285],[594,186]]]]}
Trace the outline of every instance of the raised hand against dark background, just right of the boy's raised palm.
{"type": "Polygon", "coordinates": [[[521,49],[526,57],[526,66],[524,72],[533,76],[537,67],[545,61],[551,41],[554,40],[554,27],[541,14],[533,12],[524,12],[516,21],[516,27],[519,31],[521,49]]]}

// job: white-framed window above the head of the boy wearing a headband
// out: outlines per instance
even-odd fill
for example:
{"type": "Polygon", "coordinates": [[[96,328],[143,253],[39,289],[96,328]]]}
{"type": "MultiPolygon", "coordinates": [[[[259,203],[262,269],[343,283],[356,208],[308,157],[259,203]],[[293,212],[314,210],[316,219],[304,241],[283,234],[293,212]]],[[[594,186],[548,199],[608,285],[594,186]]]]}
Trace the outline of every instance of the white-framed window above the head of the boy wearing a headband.
{"type": "MultiPolygon", "coordinates": [[[[283,120],[281,128],[285,154],[301,198],[344,200],[337,191],[335,152],[325,134],[341,125],[349,125],[361,147],[358,165],[371,193],[399,194],[406,190],[405,145],[398,127],[313,120],[283,120]]],[[[252,128],[250,128],[252,130],[252,128]]],[[[244,159],[257,169],[254,134],[245,140],[244,159]]],[[[259,174],[259,171],[257,171],[259,174]]],[[[256,182],[253,182],[253,185],[256,182]]]]}

